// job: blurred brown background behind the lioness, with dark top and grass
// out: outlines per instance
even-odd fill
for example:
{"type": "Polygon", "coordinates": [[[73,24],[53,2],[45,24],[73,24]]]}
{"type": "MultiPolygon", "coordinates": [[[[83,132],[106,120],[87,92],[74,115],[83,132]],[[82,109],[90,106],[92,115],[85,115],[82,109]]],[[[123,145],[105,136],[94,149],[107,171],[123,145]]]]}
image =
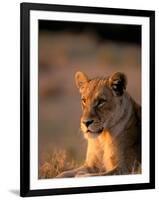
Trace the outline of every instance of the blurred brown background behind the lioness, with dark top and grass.
{"type": "Polygon", "coordinates": [[[76,71],[91,78],[124,72],[141,104],[141,26],[39,21],[39,178],[85,159],[76,71]]]}

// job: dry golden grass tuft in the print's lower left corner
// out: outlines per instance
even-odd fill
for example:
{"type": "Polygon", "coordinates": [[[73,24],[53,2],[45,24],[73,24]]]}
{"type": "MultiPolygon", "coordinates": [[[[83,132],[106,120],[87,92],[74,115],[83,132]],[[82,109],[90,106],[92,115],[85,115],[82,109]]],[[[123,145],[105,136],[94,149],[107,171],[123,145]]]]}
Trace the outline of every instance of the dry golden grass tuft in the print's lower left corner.
{"type": "Polygon", "coordinates": [[[63,171],[77,167],[77,164],[64,150],[55,150],[43,156],[43,162],[39,168],[39,179],[56,177],[63,171]]]}

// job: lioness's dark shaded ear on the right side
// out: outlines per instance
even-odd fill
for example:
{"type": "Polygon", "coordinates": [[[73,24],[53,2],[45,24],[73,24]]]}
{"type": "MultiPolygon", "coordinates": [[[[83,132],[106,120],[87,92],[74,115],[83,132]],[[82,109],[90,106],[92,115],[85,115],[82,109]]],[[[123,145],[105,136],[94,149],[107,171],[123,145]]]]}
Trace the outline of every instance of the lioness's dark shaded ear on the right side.
{"type": "Polygon", "coordinates": [[[121,96],[127,86],[127,77],[121,72],[116,72],[109,78],[109,85],[116,95],[121,96]]]}

